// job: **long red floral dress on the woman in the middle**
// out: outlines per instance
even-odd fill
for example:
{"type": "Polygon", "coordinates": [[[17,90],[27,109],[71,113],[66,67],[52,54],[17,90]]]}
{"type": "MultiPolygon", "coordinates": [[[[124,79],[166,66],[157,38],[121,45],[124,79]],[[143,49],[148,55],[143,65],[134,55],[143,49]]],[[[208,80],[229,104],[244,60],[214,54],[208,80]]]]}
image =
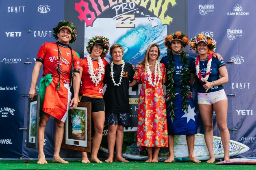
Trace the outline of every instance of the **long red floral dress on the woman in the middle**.
{"type": "MultiPolygon", "coordinates": [[[[166,70],[163,63],[159,63],[159,65],[162,74],[155,87],[149,84],[148,75],[144,74],[144,66],[141,66],[133,77],[142,84],[139,94],[137,147],[168,146],[165,94],[162,86],[166,80],[166,70]]],[[[152,72],[152,81],[154,79],[155,75],[152,72]]]]}

